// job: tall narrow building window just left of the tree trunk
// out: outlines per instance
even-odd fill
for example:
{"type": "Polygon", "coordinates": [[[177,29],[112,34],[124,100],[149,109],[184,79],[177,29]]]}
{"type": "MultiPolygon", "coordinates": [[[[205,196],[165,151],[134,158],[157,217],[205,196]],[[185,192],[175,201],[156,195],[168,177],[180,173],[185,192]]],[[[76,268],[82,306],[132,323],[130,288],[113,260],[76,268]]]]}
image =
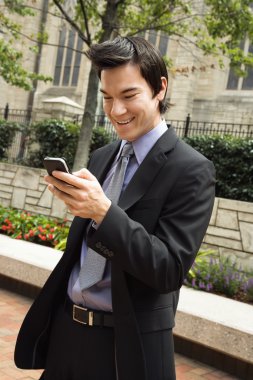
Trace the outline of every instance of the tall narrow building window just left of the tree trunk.
{"type": "Polygon", "coordinates": [[[77,86],[82,47],[83,41],[78,34],[63,27],[59,36],[54,86],[77,86]]]}

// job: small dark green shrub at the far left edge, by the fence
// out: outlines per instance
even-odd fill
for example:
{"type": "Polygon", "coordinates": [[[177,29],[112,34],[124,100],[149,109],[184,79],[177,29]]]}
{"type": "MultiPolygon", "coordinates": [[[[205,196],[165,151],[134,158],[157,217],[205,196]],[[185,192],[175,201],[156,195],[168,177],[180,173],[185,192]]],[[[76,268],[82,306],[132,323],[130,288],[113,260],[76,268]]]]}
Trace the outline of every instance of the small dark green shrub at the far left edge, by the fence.
{"type": "Polygon", "coordinates": [[[20,128],[17,123],[0,120],[0,160],[7,158],[7,150],[20,128]]]}

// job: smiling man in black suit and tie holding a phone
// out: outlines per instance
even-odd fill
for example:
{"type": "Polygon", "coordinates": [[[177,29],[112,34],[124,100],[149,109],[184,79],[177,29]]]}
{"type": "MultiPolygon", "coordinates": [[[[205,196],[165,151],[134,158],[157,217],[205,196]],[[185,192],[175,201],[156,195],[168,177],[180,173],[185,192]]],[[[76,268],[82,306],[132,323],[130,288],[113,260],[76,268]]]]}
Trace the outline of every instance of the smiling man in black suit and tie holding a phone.
{"type": "Polygon", "coordinates": [[[15,362],[45,380],[172,380],[179,289],[208,226],[214,168],[162,120],[168,77],[152,45],[117,37],[89,57],[121,141],[88,169],[46,177],[76,217],[15,362]]]}

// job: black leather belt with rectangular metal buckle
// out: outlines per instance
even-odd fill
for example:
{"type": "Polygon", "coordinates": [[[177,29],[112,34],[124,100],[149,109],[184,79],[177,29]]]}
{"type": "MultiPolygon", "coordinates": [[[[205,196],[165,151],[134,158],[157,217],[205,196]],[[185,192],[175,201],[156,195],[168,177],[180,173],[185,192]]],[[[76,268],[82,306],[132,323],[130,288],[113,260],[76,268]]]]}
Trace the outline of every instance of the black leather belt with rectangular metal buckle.
{"type": "Polygon", "coordinates": [[[99,327],[114,326],[112,313],[89,310],[85,307],[75,305],[69,297],[65,300],[65,310],[73,321],[82,323],[83,325],[99,327]]]}

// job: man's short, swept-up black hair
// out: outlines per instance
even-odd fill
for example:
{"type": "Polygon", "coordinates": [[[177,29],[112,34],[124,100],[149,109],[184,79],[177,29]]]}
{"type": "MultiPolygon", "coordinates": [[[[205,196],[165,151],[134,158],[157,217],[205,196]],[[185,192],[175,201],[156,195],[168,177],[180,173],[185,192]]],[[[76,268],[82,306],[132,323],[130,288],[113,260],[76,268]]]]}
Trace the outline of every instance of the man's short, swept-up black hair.
{"type": "MultiPolygon", "coordinates": [[[[133,63],[140,67],[140,72],[150,85],[153,96],[156,96],[161,88],[161,77],[168,81],[168,72],[165,62],[152,44],[142,37],[116,37],[114,40],[102,42],[91,46],[87,57],[95,66],[99,78],[101,71],[133,63]]],[[[168,108],[165,99],[159,102],[160,113],[163,114],[168,108]]]]}

